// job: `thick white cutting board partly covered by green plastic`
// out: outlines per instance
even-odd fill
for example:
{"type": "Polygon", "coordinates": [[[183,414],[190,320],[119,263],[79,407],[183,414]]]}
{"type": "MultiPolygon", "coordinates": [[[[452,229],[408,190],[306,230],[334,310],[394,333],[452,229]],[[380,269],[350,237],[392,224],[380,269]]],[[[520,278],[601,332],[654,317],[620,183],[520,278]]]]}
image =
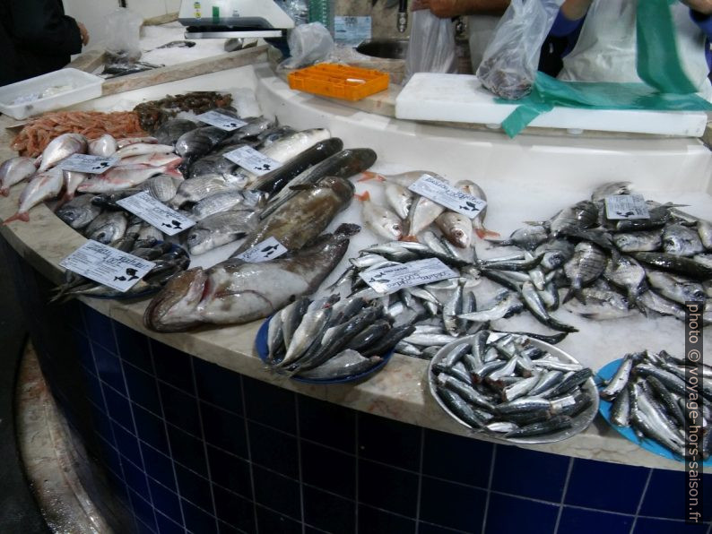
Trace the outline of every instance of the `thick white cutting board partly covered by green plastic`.
{"type": "MultiPolygon", "coordinates": [[[[477,76],[415,73],[395,99],[397,118],[499,126],[517,104],[496,104],[477,76]]],[[[699,137],[708,117],[703,111],[642,111],[555,107],[530,126],[572,132],[599,130],[699,137]]]]}

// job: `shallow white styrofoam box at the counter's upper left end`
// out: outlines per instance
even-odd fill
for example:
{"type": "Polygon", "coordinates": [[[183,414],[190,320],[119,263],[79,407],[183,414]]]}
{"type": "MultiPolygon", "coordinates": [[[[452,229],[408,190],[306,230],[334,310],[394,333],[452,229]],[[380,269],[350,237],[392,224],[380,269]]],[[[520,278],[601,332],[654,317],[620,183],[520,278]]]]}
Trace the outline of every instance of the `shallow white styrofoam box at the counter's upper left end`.
{"type": "Polygon", "coordinates": [[[27,118],[46,111],[66,108],[84,100],[96,99],[101,96],[100,76],[84,73],[73,68],[60,69],[52,73],[42,74],[22,82],[11,83],[0,87],[0,112],[13,118],[27,118]],[[52,87],[71,85],[73,89],[62,91],[56,95],[29,102],[13,104],[20,97],[41,94],[52,87]]]}

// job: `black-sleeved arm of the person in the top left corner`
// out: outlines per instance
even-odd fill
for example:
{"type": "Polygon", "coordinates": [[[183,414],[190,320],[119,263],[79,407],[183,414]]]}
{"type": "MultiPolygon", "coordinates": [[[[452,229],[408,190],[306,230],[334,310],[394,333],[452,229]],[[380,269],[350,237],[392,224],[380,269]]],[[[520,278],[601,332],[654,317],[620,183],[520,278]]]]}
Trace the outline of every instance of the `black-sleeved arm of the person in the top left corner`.
{"type": "Polygon", "coordinates": [[[82,32],[56,0],[9,0],[13,36],[39,53],[72,55],[82,51],[82,32]]]}

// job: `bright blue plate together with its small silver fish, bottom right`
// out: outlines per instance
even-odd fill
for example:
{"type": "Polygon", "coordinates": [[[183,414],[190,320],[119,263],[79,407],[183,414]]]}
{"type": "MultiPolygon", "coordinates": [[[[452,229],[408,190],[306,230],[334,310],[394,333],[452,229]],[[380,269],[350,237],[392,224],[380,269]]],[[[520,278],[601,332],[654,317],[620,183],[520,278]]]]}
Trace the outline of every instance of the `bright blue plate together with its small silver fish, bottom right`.
{"type": "MultiPolygon", "coordinates": [[[[613,360],[596,374],[601,382],[598,409],[606,422],[630,442],[673,461],[684,461],[685,412],[680,405],[680,400],[687,398],[684,364],[664,350],[657,354],[646,350],[613,360]]],[[[709,366],[701,369],[703,373],[712,372],[709,366]]],[[[701,390],[704,397],[704,384],[701,390]]],[[[703,400],[700,404],[702,417],[709,421],[712,413],[705,408],[708,403],[703,400]]],[[[703,434],[699,449],[702,465],[712,465],[709,430],[703,434]]]]}

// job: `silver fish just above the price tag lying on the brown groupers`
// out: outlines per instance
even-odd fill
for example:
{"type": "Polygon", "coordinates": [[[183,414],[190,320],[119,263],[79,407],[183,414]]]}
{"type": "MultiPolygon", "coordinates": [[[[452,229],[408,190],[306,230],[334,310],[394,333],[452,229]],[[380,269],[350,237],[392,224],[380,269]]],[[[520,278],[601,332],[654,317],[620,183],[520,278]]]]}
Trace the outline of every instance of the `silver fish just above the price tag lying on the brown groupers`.
{"type": "Polygon", "coordinates": [[[259,215],[254,210],[228,210],[209,215],[187,231],[190,254],[204,254],[244,237],[254,230],[259,215]]]}

